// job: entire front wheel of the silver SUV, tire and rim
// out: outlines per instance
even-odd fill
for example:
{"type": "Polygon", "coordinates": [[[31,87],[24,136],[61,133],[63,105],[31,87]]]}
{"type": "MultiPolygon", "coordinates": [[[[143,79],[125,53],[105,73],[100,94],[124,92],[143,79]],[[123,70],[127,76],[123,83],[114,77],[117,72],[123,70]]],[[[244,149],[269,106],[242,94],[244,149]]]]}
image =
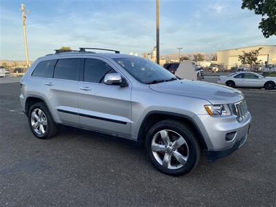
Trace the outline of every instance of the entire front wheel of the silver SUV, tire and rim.
{"type": "Polygon", "coordinates": [[[145,149],[157,170],[173,176],[190,172],[200,159],[200,147],[193,131],[186,124],[170,119],[148,130],[145,149]]]}

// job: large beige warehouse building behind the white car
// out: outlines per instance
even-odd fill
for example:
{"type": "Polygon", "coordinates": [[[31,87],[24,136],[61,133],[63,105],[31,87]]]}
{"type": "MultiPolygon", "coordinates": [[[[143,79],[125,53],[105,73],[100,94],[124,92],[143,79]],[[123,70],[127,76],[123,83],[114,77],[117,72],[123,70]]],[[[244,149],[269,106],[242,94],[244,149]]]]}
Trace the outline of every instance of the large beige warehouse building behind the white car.
{"type": "Polygon", "coordinates": [[[230,50],[220,50],[217,52],[217,63],[224,66],[224,68],[230,69],[231,67],[240,66],[242,64],[239,61],[239,55],[242,55],[243,52],[250,52],[251,50],[259,50],[258,60],[265,64],[276,64],[276,45],[270,46],[251,46],[245,48],[235,48],[230,50]]]}

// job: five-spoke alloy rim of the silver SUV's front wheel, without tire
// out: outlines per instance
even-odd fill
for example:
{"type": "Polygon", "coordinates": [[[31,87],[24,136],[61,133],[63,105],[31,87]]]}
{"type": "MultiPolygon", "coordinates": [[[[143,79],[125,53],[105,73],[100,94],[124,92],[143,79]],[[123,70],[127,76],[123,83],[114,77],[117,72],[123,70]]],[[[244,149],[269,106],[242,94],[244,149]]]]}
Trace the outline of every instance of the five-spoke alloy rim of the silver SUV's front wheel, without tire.
{"type": "Polygon", "coordinates": [[[189,148],[184,137],[173,130],[160,130],[152,138],[152,154],[165,168],[176,170],[188,161],[189,148]]]}

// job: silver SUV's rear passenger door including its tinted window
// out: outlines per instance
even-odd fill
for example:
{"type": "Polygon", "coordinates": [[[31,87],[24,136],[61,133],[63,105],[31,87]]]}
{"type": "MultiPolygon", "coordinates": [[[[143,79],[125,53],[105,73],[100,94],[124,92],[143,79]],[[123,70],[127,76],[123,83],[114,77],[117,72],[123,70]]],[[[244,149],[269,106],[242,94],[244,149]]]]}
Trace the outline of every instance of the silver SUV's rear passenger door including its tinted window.
{"type": "Polygon", "coordinates": [[[53,76],[44,79],[43,91],[50,108],[63,124],[77,126],[79,122],[77,87],[83,61],[81,58],[58,59],[53,76]]]}

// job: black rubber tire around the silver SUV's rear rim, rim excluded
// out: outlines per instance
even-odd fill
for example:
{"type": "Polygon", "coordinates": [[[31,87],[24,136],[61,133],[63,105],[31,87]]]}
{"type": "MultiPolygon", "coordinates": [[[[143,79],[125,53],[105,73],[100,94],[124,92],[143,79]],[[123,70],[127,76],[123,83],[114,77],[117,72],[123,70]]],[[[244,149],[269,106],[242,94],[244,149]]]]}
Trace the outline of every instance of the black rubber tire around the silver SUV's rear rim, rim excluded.
{"type": "Polygon", "coordinates": [[[47,106],[43,102],[34,103],[32,106],[30,106],[30,110],[28,112],[28,122],[29,122],[30,130],[32,131],[34,136],[39,139],[49,139],[50,137],[57,135],[57,133],[59,132],[59,128],[57,124],[55,124],[55,122],[53,121],[47,106]],[[46,130],[43,133],[43,135],[39,135],[32,127],[32,122],[31,122],[32,112],[36,109],[42,110],[47,120],[46,130]]]}

